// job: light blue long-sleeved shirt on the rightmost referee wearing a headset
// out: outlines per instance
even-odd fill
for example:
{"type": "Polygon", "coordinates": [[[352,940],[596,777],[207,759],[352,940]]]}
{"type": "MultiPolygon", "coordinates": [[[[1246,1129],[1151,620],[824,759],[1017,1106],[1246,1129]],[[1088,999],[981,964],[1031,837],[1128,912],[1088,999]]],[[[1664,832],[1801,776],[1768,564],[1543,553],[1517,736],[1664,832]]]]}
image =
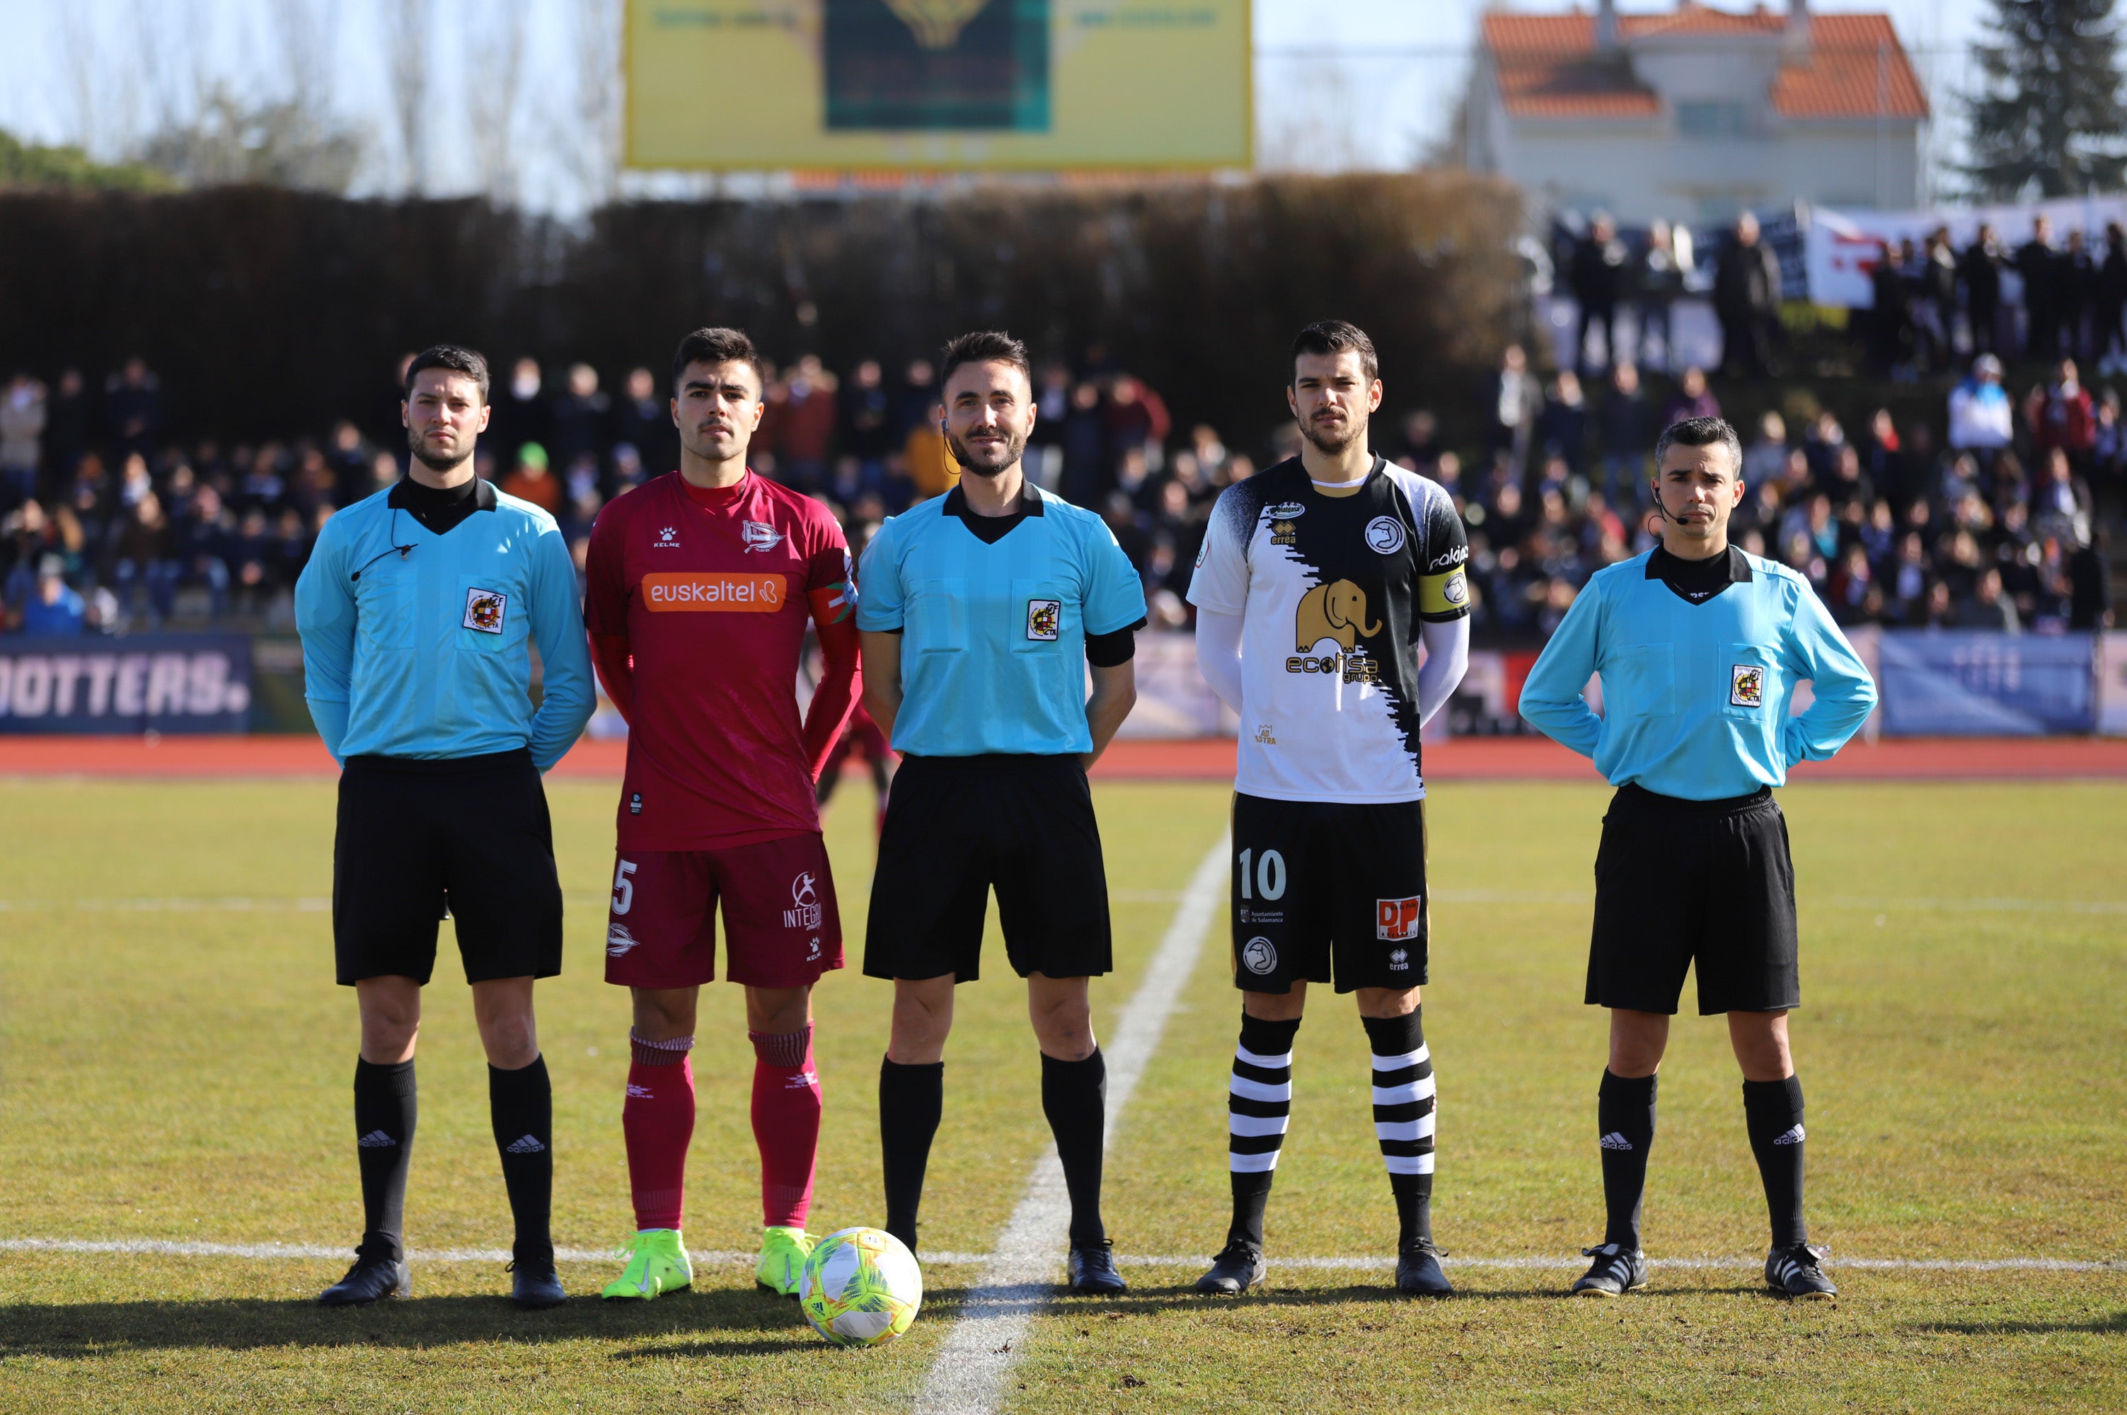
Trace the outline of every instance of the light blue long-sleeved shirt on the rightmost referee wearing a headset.
{"type": "Polygon", "coordinates": [[[1699,604],[1651,579],[1646,555],[1600,570],[1529,670],[1521,715],[1610,785],[1682,800],[1785,785],[1789,764],[1836,753],[1876,683],[1806,579],[1742,551],[1731,564],[1736,583],[1699,604]],[[1600,717],[1580,696],[1591,675],[1600,717]],[[1802,679],[1814,702],[1789,717],[1802,679]]]}

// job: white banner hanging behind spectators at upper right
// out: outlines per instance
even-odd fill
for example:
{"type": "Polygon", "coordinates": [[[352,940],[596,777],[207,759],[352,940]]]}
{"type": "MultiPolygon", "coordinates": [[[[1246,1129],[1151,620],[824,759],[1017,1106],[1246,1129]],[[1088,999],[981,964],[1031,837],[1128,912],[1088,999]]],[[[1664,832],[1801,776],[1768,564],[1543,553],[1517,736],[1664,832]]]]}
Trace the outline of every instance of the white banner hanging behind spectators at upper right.
{"type": "MultiPolygon", "coordinates": [[[[2127,196],[2070,196],[2057,202],[2025,206],[1963,206],[1942,211],[1850,211],[1810,206],[1802,223],[1802,257],[1810,274],[1810,304],[1876,309],[1870,272],[1885,240],[1921,240],[1938,226],[1950,228],[1950,245],[1963,251],[1972,245],[1980,221],[1995,228],[2004,249],[2014,251],[2031,238],[2033,217],[2053,219],[2053,245],[2063,247],[2067,232],[2082,232],[2095,255],[2104,255],[2106,221],[2127,223],[2127,196]]],[[[2016,272],[2006,270],[2002,298],[2016,296],[2016,272]]]]}

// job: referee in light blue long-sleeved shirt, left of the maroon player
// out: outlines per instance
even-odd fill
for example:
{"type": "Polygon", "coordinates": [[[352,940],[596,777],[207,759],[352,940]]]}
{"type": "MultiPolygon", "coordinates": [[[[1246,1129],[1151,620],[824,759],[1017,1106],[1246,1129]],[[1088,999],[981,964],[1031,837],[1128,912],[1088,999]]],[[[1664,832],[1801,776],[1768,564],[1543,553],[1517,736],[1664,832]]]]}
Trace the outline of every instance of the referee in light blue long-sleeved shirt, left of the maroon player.
{"type": "Polygon", "coordinates": [[[413,1049],[436,932],[455,919],[517,1219],[519,1306],[564,1300],[547,1215],[553,1098],[532,981],[562,970],[562,885],[540,772],[591,715],[576,568],[553,517],[472,475],[487,362],[438,345],[406,368],[411,475],[325,521],[296,583],[304,696],[340,762],[332,943],[362,1004],[355,1155],[364,1234],[319,1298],[406,1296],[413,1049]],[[532,709],[530,647],[547,666],[532,709]]]}

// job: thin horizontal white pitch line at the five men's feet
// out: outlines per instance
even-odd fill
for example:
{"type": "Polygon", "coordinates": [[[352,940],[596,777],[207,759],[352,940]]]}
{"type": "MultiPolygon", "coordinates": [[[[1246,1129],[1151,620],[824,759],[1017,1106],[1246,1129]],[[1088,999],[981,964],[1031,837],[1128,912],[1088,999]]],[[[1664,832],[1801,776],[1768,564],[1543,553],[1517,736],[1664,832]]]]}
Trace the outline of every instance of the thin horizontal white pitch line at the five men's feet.
{"type": "MultiPolygon", "coordinates": [[[[155,1258],[247,1258],[262,1262],[279,1260],[347,1260],[351,1247],[330,1247],[323,1243],[181,1243],[170,1238],[0,1238],[0,1253],[143,1253],[155,1258]]],[[[553,1251],[562,1262],[608,1262],[613,1249],[562,1247],[553,1251]]],[[[689,1249],[687,1253],[702,1266],[744,1268],[753,1266],[757,1253],[734,1249],[689,1249]]],[[[411,1262],[508,1262],[510,1251],[500,1247],[481,1249],[413,1249],[411,1262]]],[[[983,1266],[998,1262],[998,1253],[925,1253],[925,1268],[983,1266]]],[[[1198,1268],[1202,1255],[1191,1253],[1117,1253],[1123,1268],[1198,1268]]],[[[1448,1268],[1523,1268],[1523,1270],[1568,1270],[1580,1268],[1587,1260],[1572,1255],[1536,1258],[1442,1258],[1448,1268]]],[[[1757,1268],[1763,1258],[1748,1253],[1736,1258],[1648,1258],[1653,1268],[1727,1270],[1757,1268]]],[[[1387,1272],[1395,1268],[1393,1258],[1272,1258],[1272,1268],[1291,1270],[1351,1270],[1387,1272]]],[[[1872,1272],[2127,1272],[2127,1258],[1831,1258],[1833,1268],[1859,1268],[1872,1272]]]]}

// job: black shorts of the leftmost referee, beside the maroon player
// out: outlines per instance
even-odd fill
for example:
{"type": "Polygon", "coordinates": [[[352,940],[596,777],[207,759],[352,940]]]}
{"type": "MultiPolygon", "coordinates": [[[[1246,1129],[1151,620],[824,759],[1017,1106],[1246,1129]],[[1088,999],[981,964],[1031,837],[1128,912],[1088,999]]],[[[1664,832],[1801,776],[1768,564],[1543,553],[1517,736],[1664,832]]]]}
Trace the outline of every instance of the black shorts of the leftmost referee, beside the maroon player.
{"type": "Polygon", "coordinates": [[[428,983],[445,909],[468,983],[562,970],[562,881],[532,753],[347,758],[332,843],[340,983],[428,983]]]}

